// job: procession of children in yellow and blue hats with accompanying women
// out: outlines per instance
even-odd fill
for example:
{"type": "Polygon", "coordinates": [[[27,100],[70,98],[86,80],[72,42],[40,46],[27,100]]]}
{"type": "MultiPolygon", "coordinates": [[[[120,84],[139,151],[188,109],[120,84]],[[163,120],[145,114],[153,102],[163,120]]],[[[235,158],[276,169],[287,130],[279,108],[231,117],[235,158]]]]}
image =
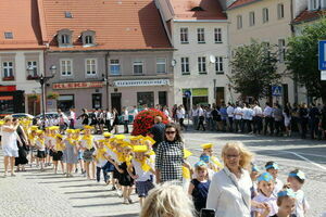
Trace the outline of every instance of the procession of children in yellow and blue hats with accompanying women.
{"type": "Polygon", "coordinates": [[[266,162],[265,169],[259,169],[241,142],[223,146],[223,163],[214,144],[201,144],[200,157],[190,164],[192,153],[179,126],[164,125],[160,116],[154,122],[147,136],[106,131],[96,139],[95,127],[86,123],[83,130],[61,133],[60,126],[41,130],[32,120],[7,116],[0,123],[4,177],[8,171],[15,176],[14,166],[20,171],[26,165],[67,178],[80,173],[100,182],[102,177],[123,204],[134,203],[130,194],[136,189],[142,217],[192,217],[205,209],[216,217],[303,217],[309,209],[303,171],[286,171],[288,178],[281,181],[277,163],[266,162]]]}

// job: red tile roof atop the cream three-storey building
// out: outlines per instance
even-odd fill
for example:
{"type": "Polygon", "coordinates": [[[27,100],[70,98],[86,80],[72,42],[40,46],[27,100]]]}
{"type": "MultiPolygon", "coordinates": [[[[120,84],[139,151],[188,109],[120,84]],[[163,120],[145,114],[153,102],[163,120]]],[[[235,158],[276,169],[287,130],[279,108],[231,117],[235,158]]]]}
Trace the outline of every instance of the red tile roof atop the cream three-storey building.
{"type": "Polygon", "coordinates": [[[170,0],[175,20],[226,20],[218,0],[170,0]],[[191,11],[200,7],[203,11],[191,11]]]}

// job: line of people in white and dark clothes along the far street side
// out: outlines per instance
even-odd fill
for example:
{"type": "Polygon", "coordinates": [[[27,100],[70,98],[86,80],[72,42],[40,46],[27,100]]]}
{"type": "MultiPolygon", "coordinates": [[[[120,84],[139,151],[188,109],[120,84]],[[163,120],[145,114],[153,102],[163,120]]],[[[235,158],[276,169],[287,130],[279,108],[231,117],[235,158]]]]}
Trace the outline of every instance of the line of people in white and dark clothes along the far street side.
{"type": "MultiPolygon", "coordinates": [[[[184,129],[187,129],[184,124],[186,114],[184,105],[174,105],[172,117],[184,129]]],[[[196,130],[281,137],[290,137],[296,131],[302,139],[308,135],[311,139],[326,139],[326,105],[316,106],[314,103],[309,106],[305,103],[281,106],[277,102],[273,105],[266,102],[264,107],[259,102],[196,105],[189,111],[189,118],[196,130]]]]}

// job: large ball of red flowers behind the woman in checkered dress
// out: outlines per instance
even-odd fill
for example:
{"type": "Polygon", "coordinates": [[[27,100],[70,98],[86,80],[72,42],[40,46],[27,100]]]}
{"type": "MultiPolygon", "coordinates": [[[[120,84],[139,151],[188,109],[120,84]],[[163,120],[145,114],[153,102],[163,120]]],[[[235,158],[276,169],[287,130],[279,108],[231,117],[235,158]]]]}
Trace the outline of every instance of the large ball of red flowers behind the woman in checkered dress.
{"type": "Polygon", "coordinates": [[[133,136],[142,135],[146,136],[149,129],[154,125],[154,117],[161,116],[163,124],[167,124],[168,119],[167,116],[154,108],[145,110],[137,114],[134,120],[134,130],[131,132],[133,136]]]}

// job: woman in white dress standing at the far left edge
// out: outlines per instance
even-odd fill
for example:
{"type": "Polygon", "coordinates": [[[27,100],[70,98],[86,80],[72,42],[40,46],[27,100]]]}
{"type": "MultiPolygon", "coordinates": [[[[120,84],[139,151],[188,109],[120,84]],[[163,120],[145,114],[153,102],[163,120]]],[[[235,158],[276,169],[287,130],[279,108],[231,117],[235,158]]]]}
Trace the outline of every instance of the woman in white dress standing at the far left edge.
{"type": "Polygon", "coordinates": [[[4,177],[7,177],[8,166],[10,164],[11,176],[14,174],[15,157],[18,157],[17,130],[18,122],[13,123],[12,116],[4,117],[4,124],[1,127],[1,144],[4,156],[4,177]]]}

